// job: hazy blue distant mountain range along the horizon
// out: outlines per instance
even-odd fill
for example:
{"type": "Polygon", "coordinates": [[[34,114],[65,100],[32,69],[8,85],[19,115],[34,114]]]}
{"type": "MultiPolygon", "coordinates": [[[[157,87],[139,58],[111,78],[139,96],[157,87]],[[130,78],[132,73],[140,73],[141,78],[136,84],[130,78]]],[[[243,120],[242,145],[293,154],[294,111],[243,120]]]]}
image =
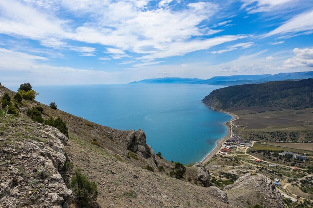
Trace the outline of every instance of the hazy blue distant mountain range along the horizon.
{"type": "Polygon", "coordinates": [[[262,75],[214,76],[210,79],[164,77],[143,79],[137,82],[130,82],[129,84],[209,84],[233,86],[240,84],[264,83],[268,81],[299,80],[308,78],[313,78],[313,71],[262,75]]]}

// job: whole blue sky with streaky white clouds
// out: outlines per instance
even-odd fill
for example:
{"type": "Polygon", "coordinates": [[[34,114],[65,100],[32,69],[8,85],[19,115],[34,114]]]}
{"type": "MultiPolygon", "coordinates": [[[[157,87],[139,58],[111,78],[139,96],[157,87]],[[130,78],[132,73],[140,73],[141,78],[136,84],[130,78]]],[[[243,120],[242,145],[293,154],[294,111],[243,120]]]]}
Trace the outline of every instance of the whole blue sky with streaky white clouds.
{"type": "Polygon", "coordinates": [[[313,0],[0,0],[0,82],[313,71],[313,0]]]}

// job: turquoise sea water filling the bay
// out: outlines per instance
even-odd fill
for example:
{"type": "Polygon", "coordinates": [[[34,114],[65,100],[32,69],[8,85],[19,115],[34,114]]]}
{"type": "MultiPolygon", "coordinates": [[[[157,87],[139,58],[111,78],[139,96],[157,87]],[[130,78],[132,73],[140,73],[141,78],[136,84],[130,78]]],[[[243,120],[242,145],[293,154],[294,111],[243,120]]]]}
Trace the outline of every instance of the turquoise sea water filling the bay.
{"type": "Polygon", "coordinates": [[[36,86],[37,101],[116,129],[142,129],[166,160],[198,162],[226,135],[231,116],[201,100],[220,86],[195,84],[36,86]]]}

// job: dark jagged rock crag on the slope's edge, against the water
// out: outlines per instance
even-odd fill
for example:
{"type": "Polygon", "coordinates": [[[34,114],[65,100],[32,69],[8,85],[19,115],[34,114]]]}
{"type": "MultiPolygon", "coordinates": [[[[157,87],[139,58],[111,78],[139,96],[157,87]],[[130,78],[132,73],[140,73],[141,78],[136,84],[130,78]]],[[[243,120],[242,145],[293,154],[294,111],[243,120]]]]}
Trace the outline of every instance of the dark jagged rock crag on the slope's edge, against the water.
{"type": "Polygon", "coordinates": [[[155,155],[150,146],[146,144],[145,133],[139,129],[138,131],[130,131],[124,141],[125,148],[134,153],[139,153],[144,158],[152,157],[155,161],[155,155]]]}

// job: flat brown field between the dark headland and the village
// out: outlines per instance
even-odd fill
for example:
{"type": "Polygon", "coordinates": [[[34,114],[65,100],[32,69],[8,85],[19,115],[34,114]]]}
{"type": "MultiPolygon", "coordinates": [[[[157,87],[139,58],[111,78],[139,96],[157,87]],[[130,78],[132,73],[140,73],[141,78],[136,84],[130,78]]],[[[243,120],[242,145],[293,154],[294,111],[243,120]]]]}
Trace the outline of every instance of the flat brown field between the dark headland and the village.
{"type": "Polygon", "coordinates": [[[233,132],[244,139],[268,142],[313,140],[313,108],[235,107],[224,110],[239,117],[233,122],[237,126],[233,132]]]}

